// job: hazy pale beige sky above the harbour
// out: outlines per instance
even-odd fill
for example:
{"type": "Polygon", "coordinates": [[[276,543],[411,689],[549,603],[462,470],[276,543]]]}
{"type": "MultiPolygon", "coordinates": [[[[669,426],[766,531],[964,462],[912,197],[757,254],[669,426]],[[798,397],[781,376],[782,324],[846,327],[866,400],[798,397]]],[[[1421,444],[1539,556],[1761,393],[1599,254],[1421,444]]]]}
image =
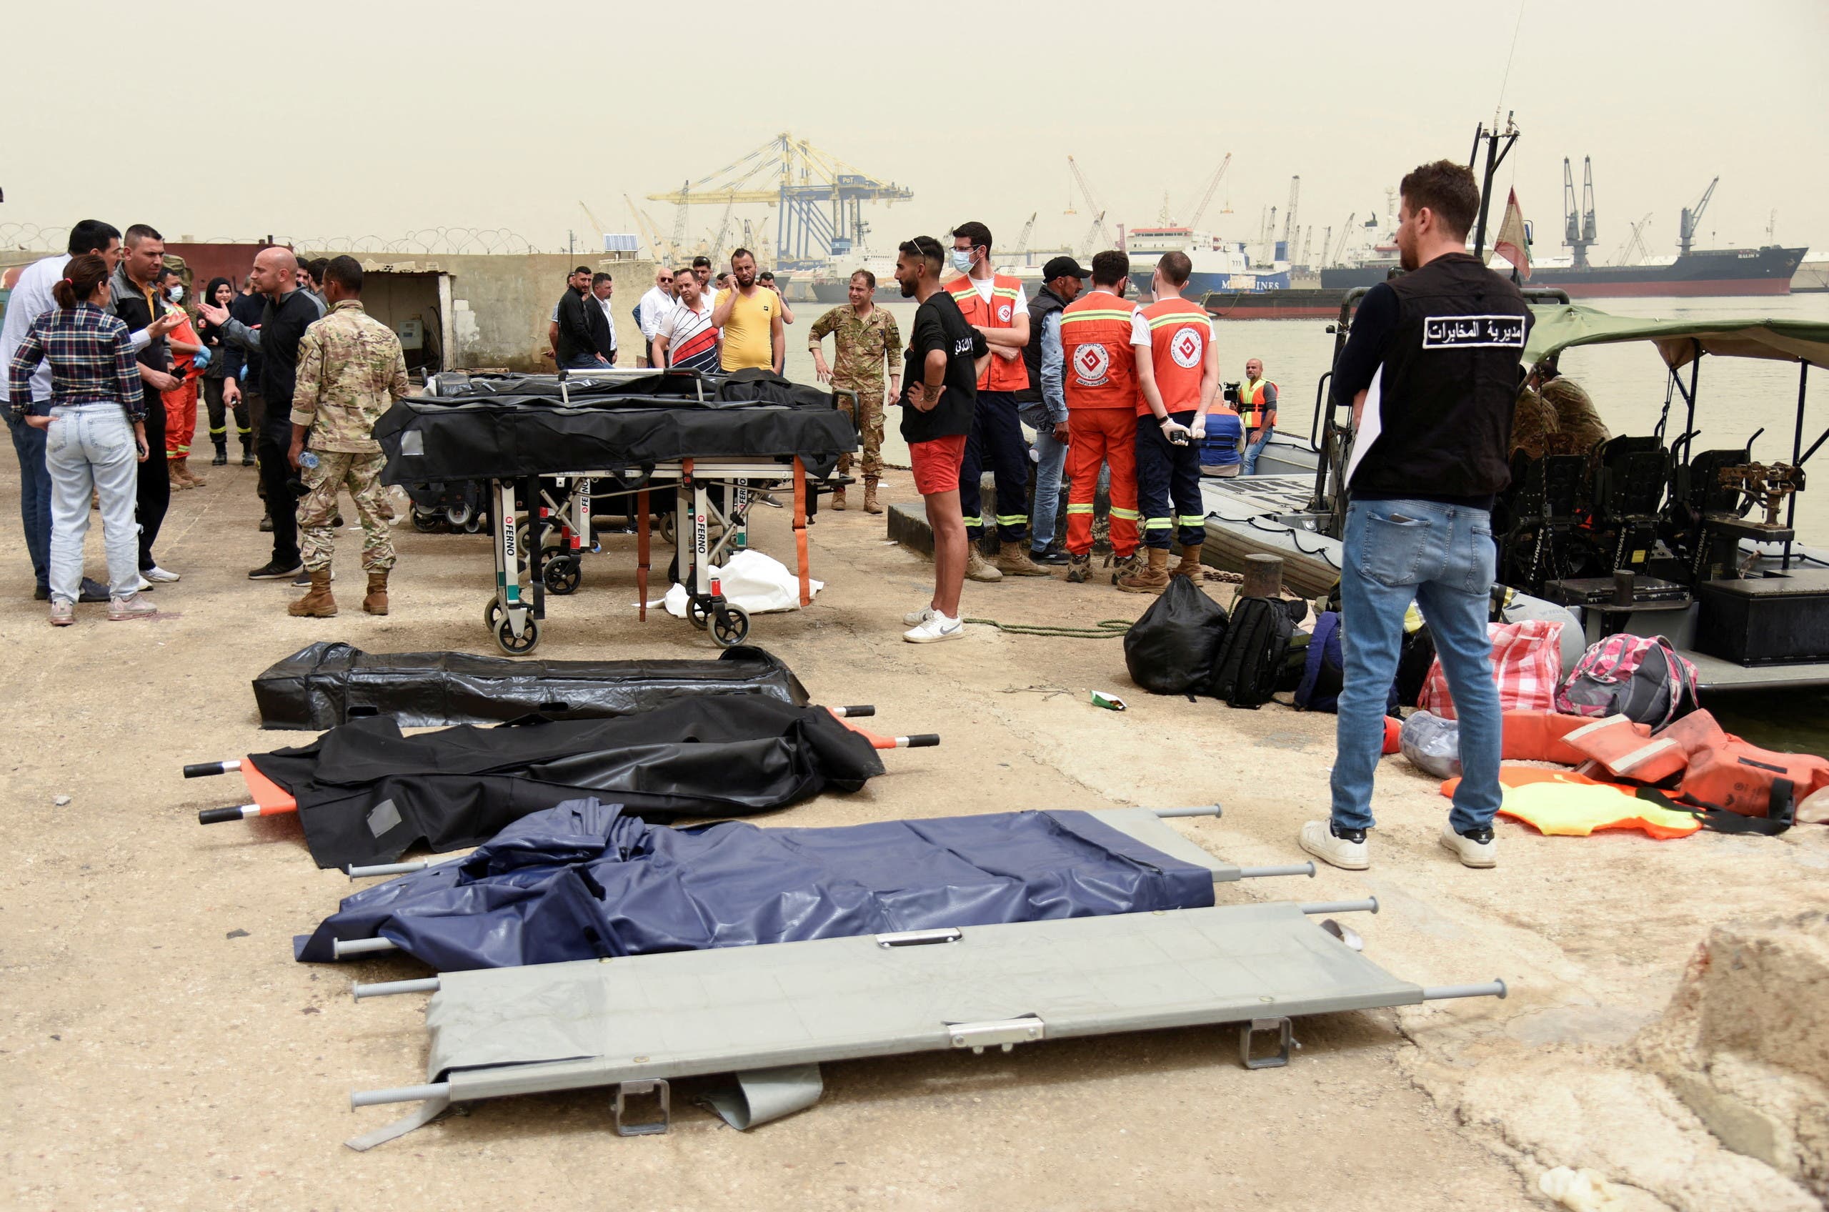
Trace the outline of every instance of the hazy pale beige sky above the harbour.
{"type": "MultiPolygon", "coordinates": [[[[914,190],[872,243],[966,218],[1074,243],[1066,156],[1108,223],[1185,218],[1255,238],[1300,174],[1300,225],[1383,207],[1419,161],[1465,159],[1514,110],[1502,170],[1556,254],[1562,157],[1595,161],[1600,242],[1672,251],[1721,176],[1703,242],[1829,249],[1829,2],[401,4],[161,9],[15,4],[4,18],[0,225],[77,216],[177,234],[397,238],[510,229],[594,243],[583,200],[677,187],[788,130],[914,190]],[[166,20],[161,40],[155,22],[166,20]],[[119,46],[121,49],[110,49],[119,46]],[[62,49],[71,48],[71,49],[62,49]],[[126,84],[132,66],[146,84],[126,84]],[[1231,205],[1231,214],[1220,211],[1231,205]]],[[[666,203],[640,203],[671,229],[666,203]]],[[[774,211],[750,218],[774,227],[774,211]]],[[[721,207],[695,207],[704,234],[721,207]]],[[[1280,220],[1278,220],[1280,227],[1280,220]]],[[[5,227],[0,227],[4,234],[5,227]]]]}

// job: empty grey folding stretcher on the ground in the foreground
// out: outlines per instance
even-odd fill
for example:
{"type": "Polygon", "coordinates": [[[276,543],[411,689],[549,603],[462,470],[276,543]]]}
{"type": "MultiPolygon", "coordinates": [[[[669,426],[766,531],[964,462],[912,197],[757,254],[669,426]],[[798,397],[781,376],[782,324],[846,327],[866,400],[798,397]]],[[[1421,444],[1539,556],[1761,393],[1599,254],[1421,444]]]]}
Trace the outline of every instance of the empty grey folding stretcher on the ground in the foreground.
{"type": "Polygon", "coordinates": [[[737,1077],[713,1106],[748,1128],[818,1100],[823,1062],[1121,1031],[1240,1023],[1240,1060],[1273,1067],[1304,1014],[1505,996],[1500,979],[1399,979],[1339,923],[1311,921],[1350,910],[1377,903],[1068,917],[402,981],[432,994],[426,1082],[349,1102],[421,1106],[349,1146],[412,1131],[452,1102],[585,1088],[615,1089],[618,1133],[666,1131],[669,1082],[697,1075],[737,1077]],[[1266,1038],[1271,1055],[1260,1055],[1266,1038]],[[631,1095],[657,1097],[658,1119],[633,1124],[631,1095]]]}

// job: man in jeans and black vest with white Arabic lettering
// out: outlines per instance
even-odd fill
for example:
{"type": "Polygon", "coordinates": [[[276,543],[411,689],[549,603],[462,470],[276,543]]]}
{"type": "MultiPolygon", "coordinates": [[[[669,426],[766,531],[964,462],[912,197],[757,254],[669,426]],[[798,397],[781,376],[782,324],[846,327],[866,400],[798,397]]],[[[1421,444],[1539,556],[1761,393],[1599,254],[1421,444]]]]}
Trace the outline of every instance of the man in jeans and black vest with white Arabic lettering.
{"type": "Polygon", "coordinates": [[[1531,309],[1516,286],[1467,254],[1480,211],[1471,170],[1439,159],[1403,178],[1399,194],[1397,253],[1408,273],[1366,293],[1333,368],[1333,399],[1352,405],[1355,430],[1341,558],[1346,665],[1333,815],[1304,824],[1299,840],[1333,866],[1370,866],[1372,773],[1414,601],[1460,716],[1461,782],[1439,840],[1461,864],[1491,868],[1503,747],[1487,639],[1492,498],[1511,482],[1531,309]]]}

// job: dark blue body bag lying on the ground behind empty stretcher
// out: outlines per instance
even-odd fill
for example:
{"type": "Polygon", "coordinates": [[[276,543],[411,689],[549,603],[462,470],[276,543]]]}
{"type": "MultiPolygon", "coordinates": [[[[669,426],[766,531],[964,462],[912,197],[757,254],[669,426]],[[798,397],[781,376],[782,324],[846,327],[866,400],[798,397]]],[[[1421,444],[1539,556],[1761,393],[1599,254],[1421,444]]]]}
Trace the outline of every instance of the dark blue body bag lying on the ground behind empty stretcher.
{"type": "Polygon", "coordinates": [[[1213,904],[1213,871],[1083,811],[666,829],[596,798],[344,899],[302,961],[386,937],[441,972],[1213,904]]]}

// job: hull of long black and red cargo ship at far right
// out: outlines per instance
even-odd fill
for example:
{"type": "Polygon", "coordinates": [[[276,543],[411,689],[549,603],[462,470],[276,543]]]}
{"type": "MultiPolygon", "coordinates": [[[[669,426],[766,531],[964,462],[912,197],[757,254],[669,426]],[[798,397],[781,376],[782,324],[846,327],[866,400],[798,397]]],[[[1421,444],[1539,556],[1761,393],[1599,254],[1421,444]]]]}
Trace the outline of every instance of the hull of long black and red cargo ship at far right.
{"type": "MultiPolygon", "coordinates": [[[[1807,249],[1694,249],[1650,265],[1531,265],[1531,286],[1549,286],[1569,298],[1628,298],[1674,295],[1789,295],[1791,278],[1807,249]]],[[[1357,265],[1321,271],[1321,286],[1346,291],[1377,286],[1397,258],[1366,258],[1357,265]]]]}

